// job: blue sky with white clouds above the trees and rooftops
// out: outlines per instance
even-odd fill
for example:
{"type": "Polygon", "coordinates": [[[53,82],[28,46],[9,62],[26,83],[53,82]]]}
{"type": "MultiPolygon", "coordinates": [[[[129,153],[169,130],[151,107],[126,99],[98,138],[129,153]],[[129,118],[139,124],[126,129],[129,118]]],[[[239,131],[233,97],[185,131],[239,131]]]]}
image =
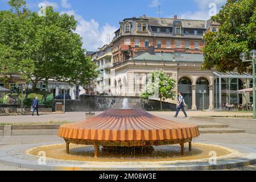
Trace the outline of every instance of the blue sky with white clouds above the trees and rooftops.
{"type": "MultiPolygon", "coordinates": [[[[8,10],[8,0],[0,0],[0,10],[8,10]]],[[[133,16],[159,16],[172,18],[178,15],[185,19],[209,19],[209,5],[215,3],[217,11],[226,0],[26,0],[27,7],[38,11],[39,3],[53,6],[61,13],[75,15],[79,22],[77,33],[84,42],[84,48],[95,51],[109,43],[119,21],[133,16]]]]}

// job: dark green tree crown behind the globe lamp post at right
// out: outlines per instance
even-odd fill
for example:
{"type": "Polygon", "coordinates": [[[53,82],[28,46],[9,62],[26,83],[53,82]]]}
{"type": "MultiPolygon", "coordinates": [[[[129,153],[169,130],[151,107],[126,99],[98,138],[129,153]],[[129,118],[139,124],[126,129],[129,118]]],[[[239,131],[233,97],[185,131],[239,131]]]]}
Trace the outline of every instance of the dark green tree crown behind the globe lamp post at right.
{"type": "Polygon", "coordinates": [[[212,20],[220,23],[220,30],[204,36],[202,68],[251,72],[251,64],[243,63],[239,55],[249,53],[256,46],[256,1],[228,0],[212,20]]]}

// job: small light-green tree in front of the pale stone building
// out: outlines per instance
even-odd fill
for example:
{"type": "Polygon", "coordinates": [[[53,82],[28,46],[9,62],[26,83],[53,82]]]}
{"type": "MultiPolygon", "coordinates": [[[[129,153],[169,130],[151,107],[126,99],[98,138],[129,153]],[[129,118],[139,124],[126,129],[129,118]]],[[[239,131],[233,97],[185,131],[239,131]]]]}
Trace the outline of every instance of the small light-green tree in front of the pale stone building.
{"type": "Polygon", "coordinates": [[[143,89],[141,98],[150,98],[157,96],[160,99],[160,107],[163,109],[162,101],[167,99],[175,99],[176,92],[172,91],[175,88],[176,81],[168,76],[162,69],[156,70],[150,74],[146,88],[143,89]]]}

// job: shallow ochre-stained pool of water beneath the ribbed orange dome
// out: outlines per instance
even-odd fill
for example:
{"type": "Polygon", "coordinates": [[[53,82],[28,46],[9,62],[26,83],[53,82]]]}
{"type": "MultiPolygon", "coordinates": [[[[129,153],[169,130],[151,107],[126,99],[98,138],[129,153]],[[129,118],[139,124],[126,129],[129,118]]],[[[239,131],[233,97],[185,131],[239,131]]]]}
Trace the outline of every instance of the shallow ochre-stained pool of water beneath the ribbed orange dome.
{"type": "Polygon", "coordinates": [[[81,146],[71,144],[70,154],[65,152],[65,144],[53,144],[51,146],[40,146],[28,151],[28,154],[40,156],[40,151],[46,152],[47,158],[57,160],[75,160],[82,162],[174,162],[174,161],[187,161],[187,160],[200,160],[208,159],[209,152],[215,151],[217,157],[226,156],[232,151],[207,144],[193,144],[193,150],[189,151],[188,146],[185,147],[185,154],[180,155],[180,146],[157,146],[154,151],[141,152],[141,151],[127,151],[124,152],[108,152],[100,150],[101,158],[94,158],[93,146],[81,146]]]}

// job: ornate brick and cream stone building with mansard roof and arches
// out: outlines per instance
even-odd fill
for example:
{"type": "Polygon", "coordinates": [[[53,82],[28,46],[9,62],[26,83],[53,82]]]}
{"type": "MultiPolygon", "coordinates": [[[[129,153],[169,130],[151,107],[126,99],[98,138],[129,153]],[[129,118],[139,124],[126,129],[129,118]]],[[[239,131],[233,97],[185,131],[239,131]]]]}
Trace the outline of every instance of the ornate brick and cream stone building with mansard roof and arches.
{"type": "MultiPolygon", "coordinates": [[[[163,69],[176,80],[174,90],[183,93],[188,109],[220,109],[226,104],[237,107],[250,104],[252,94],[241,94],[238,90],[251,88],[252,76],[201,70],[203,36],[217,32],[218,23],[178,19],[177,16],[152,18],[143,15],[124,19],[119,24],[120,28],[109,45],[113,63],[110,94],[138,97],[150,73],[163,69]]],[[[99,67],[101,59],[96,59],[99,67]]],[[[97,86],[102,85],[104,73],[101,69],[97,86]]],[[[176,104],[177,98],[168,102],[176,104]]]]}

